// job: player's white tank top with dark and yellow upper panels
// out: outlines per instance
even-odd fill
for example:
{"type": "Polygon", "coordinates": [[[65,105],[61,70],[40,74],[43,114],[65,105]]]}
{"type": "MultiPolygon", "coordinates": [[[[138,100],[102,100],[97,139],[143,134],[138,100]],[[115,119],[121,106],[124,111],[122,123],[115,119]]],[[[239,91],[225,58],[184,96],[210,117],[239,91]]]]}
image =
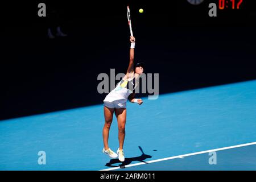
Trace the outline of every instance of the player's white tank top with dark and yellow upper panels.
{"type": "Polygon", "coordinates": [[[135,78],[132,80],[122,80],[117,84],[117,86],[106,96],[104,102],[113,102],[117,100],[127,101],[129,95],[133,93],[133,90],[138,85],[135,83],[135,78]]]}

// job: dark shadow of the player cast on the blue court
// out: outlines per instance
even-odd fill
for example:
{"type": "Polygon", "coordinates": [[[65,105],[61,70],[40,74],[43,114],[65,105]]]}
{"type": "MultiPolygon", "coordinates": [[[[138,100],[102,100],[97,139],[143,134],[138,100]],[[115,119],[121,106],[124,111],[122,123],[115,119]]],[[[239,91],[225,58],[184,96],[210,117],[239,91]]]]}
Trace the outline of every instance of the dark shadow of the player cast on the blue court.
{"type": "MultiPolygon", "coordinates": [[[[146,155],[144,154],[141,146],[139,146],[139,150],[141,150],[142,152],[142,155],[141,156],[137,156],[137,157],[134,157],[134,158],[125,158],[125,161],[122,162],[122,164],[119,164],[118,166],[120,168],[125,168],[126,165],[134,162],[134,161],[138,161],[138,162],[143,162],[145,164],[147,164],[147,162],[144,162],[145,159],[148,159],[148,158],[152,158],[151,155],[146,155]]],[[[113,166],[113,164],[117,164],[117,163],[121,163],[118,159],[111,159],[109,161],[109,163],[106,163],[105,166],[108,166],[108,167],[118,167],[118,166],[113,166]]]]}

